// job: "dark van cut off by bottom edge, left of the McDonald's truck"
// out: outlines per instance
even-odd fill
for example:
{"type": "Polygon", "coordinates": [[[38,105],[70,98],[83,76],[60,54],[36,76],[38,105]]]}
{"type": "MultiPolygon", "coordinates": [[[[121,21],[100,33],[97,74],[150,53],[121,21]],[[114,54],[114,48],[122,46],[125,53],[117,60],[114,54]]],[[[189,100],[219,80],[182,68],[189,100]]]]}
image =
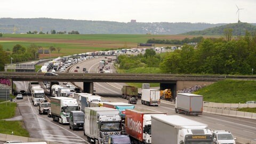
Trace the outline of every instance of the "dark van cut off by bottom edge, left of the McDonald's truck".
{"type": "Polygon", "coordinates": [[[131,144],[131,140],[126,135],[110,135],[108,144],[131,144]]]}

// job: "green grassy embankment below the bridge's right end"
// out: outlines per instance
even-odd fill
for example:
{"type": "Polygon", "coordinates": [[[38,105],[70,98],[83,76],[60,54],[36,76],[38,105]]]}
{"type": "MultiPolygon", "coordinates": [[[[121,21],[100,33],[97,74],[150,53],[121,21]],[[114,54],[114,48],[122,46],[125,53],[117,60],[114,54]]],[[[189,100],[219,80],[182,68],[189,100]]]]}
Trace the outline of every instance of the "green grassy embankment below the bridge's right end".
{"type": "Polygon", "coordinates": [[[227,79],[196,91],[204,95],[204,101],[220,103],[245,103],[256,100],[256,82],[227,79]]]}

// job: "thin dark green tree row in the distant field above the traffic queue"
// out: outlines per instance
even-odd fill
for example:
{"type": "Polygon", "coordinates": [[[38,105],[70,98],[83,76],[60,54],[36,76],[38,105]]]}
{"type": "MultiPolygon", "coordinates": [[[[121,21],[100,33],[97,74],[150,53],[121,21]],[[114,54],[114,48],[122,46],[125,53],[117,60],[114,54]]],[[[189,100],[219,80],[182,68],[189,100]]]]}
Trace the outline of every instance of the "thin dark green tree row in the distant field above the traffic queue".
{"type": "Polygon", "coordinates": [[[147,43],[153,43],[153,44],[185,44],[185,43],[199,43],[203,39],[202,36],[199,37],[193,37],[193,38],[184,38],[182,40],[178,39],[148,39],[147,43]]]}

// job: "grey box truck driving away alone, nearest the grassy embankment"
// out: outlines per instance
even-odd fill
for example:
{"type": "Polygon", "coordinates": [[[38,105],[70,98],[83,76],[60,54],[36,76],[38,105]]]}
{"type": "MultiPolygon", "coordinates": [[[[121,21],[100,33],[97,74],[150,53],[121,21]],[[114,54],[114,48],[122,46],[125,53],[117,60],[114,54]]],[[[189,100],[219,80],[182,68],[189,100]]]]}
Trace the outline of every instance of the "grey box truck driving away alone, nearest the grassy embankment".
{"type": "Polygon", "coordinates": [[[202,115],[203,96],[192,93],[178,93],[175,99],[175,113],[202,115]]]}

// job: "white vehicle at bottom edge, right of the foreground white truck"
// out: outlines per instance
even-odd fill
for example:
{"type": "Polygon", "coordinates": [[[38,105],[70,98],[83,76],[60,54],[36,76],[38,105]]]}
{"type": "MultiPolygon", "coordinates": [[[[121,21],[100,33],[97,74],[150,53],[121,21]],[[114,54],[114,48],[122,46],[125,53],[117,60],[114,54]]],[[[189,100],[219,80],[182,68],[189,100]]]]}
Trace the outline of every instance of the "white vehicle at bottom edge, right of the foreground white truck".
{"type": "Polygon", "coordinates": [[[236,143],[236,138],[233,137],[233,134],[229,131],[216,130],[212,131],[213,143],[222,144],[222,143],[236,143]]]}

